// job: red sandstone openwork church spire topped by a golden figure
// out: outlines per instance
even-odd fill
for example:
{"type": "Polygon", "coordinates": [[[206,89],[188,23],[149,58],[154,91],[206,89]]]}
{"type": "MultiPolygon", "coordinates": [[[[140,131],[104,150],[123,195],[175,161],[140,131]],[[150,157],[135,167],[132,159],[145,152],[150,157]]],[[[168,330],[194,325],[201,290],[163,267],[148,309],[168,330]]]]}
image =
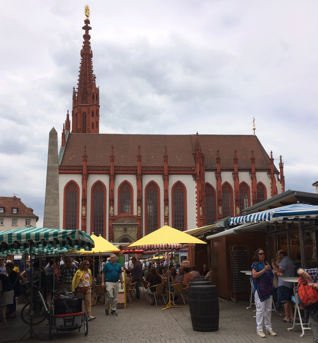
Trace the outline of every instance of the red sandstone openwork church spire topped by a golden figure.
{"type": "Polygon", "coordinates": [[[90,47],[89,7],[85,6],[85,31],[77,90],[73,88],[72,133],[99,133],[99,88],[93,71],[90,47]]]}

